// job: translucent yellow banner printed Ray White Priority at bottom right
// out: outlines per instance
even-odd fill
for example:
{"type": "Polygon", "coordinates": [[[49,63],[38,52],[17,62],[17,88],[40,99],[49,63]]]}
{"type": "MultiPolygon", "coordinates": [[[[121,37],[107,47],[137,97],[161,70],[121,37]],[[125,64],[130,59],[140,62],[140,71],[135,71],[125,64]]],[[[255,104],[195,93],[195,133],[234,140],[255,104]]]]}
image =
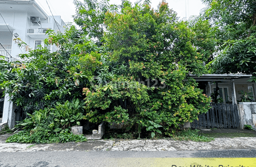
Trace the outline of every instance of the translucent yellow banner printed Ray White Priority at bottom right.
{"type": "Polygon", "coordinates": [[[108,163],[121,167],[256,167],[256,158],[110,158],[108,163]]]}

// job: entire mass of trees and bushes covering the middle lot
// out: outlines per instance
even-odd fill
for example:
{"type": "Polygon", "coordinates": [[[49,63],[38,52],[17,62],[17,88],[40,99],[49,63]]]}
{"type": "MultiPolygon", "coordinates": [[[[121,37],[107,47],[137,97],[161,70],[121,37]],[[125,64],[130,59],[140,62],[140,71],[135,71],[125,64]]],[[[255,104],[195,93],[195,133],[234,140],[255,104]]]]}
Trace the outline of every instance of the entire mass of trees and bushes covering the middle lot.
{"type": "Polygon", "coordinates": [[[171,135],[178,124],[208,111],[210,99],[189,76],[206,73],[204,63],[215,51],[208,21],[181,21],[165,1],[157,10],[149,1],[75,4],[80,29],[69,25],[63,34],[47,32],[45,43],[59,50],[31,50],[20,42],[29,50],[21,55],[27,59],[1,62],[1,86],[28,117],[20,126],[46,128],[52,135],[81,119],[141,130],[153,121],[171,135]],[[76,98],[80,103],[74,106],[76,98]]]}

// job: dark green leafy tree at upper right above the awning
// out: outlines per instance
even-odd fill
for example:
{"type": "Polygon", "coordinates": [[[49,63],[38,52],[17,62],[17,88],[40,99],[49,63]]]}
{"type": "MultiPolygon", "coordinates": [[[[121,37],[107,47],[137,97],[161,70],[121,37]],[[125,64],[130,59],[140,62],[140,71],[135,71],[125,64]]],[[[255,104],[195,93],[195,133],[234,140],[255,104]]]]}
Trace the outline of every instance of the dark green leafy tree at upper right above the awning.
{"type": "Polygon", "coordinates": [[[213,73],[256,72],[256,3],[254,0],[202,0],[205,18],[217,27],[218,56],[213,73]]]}

